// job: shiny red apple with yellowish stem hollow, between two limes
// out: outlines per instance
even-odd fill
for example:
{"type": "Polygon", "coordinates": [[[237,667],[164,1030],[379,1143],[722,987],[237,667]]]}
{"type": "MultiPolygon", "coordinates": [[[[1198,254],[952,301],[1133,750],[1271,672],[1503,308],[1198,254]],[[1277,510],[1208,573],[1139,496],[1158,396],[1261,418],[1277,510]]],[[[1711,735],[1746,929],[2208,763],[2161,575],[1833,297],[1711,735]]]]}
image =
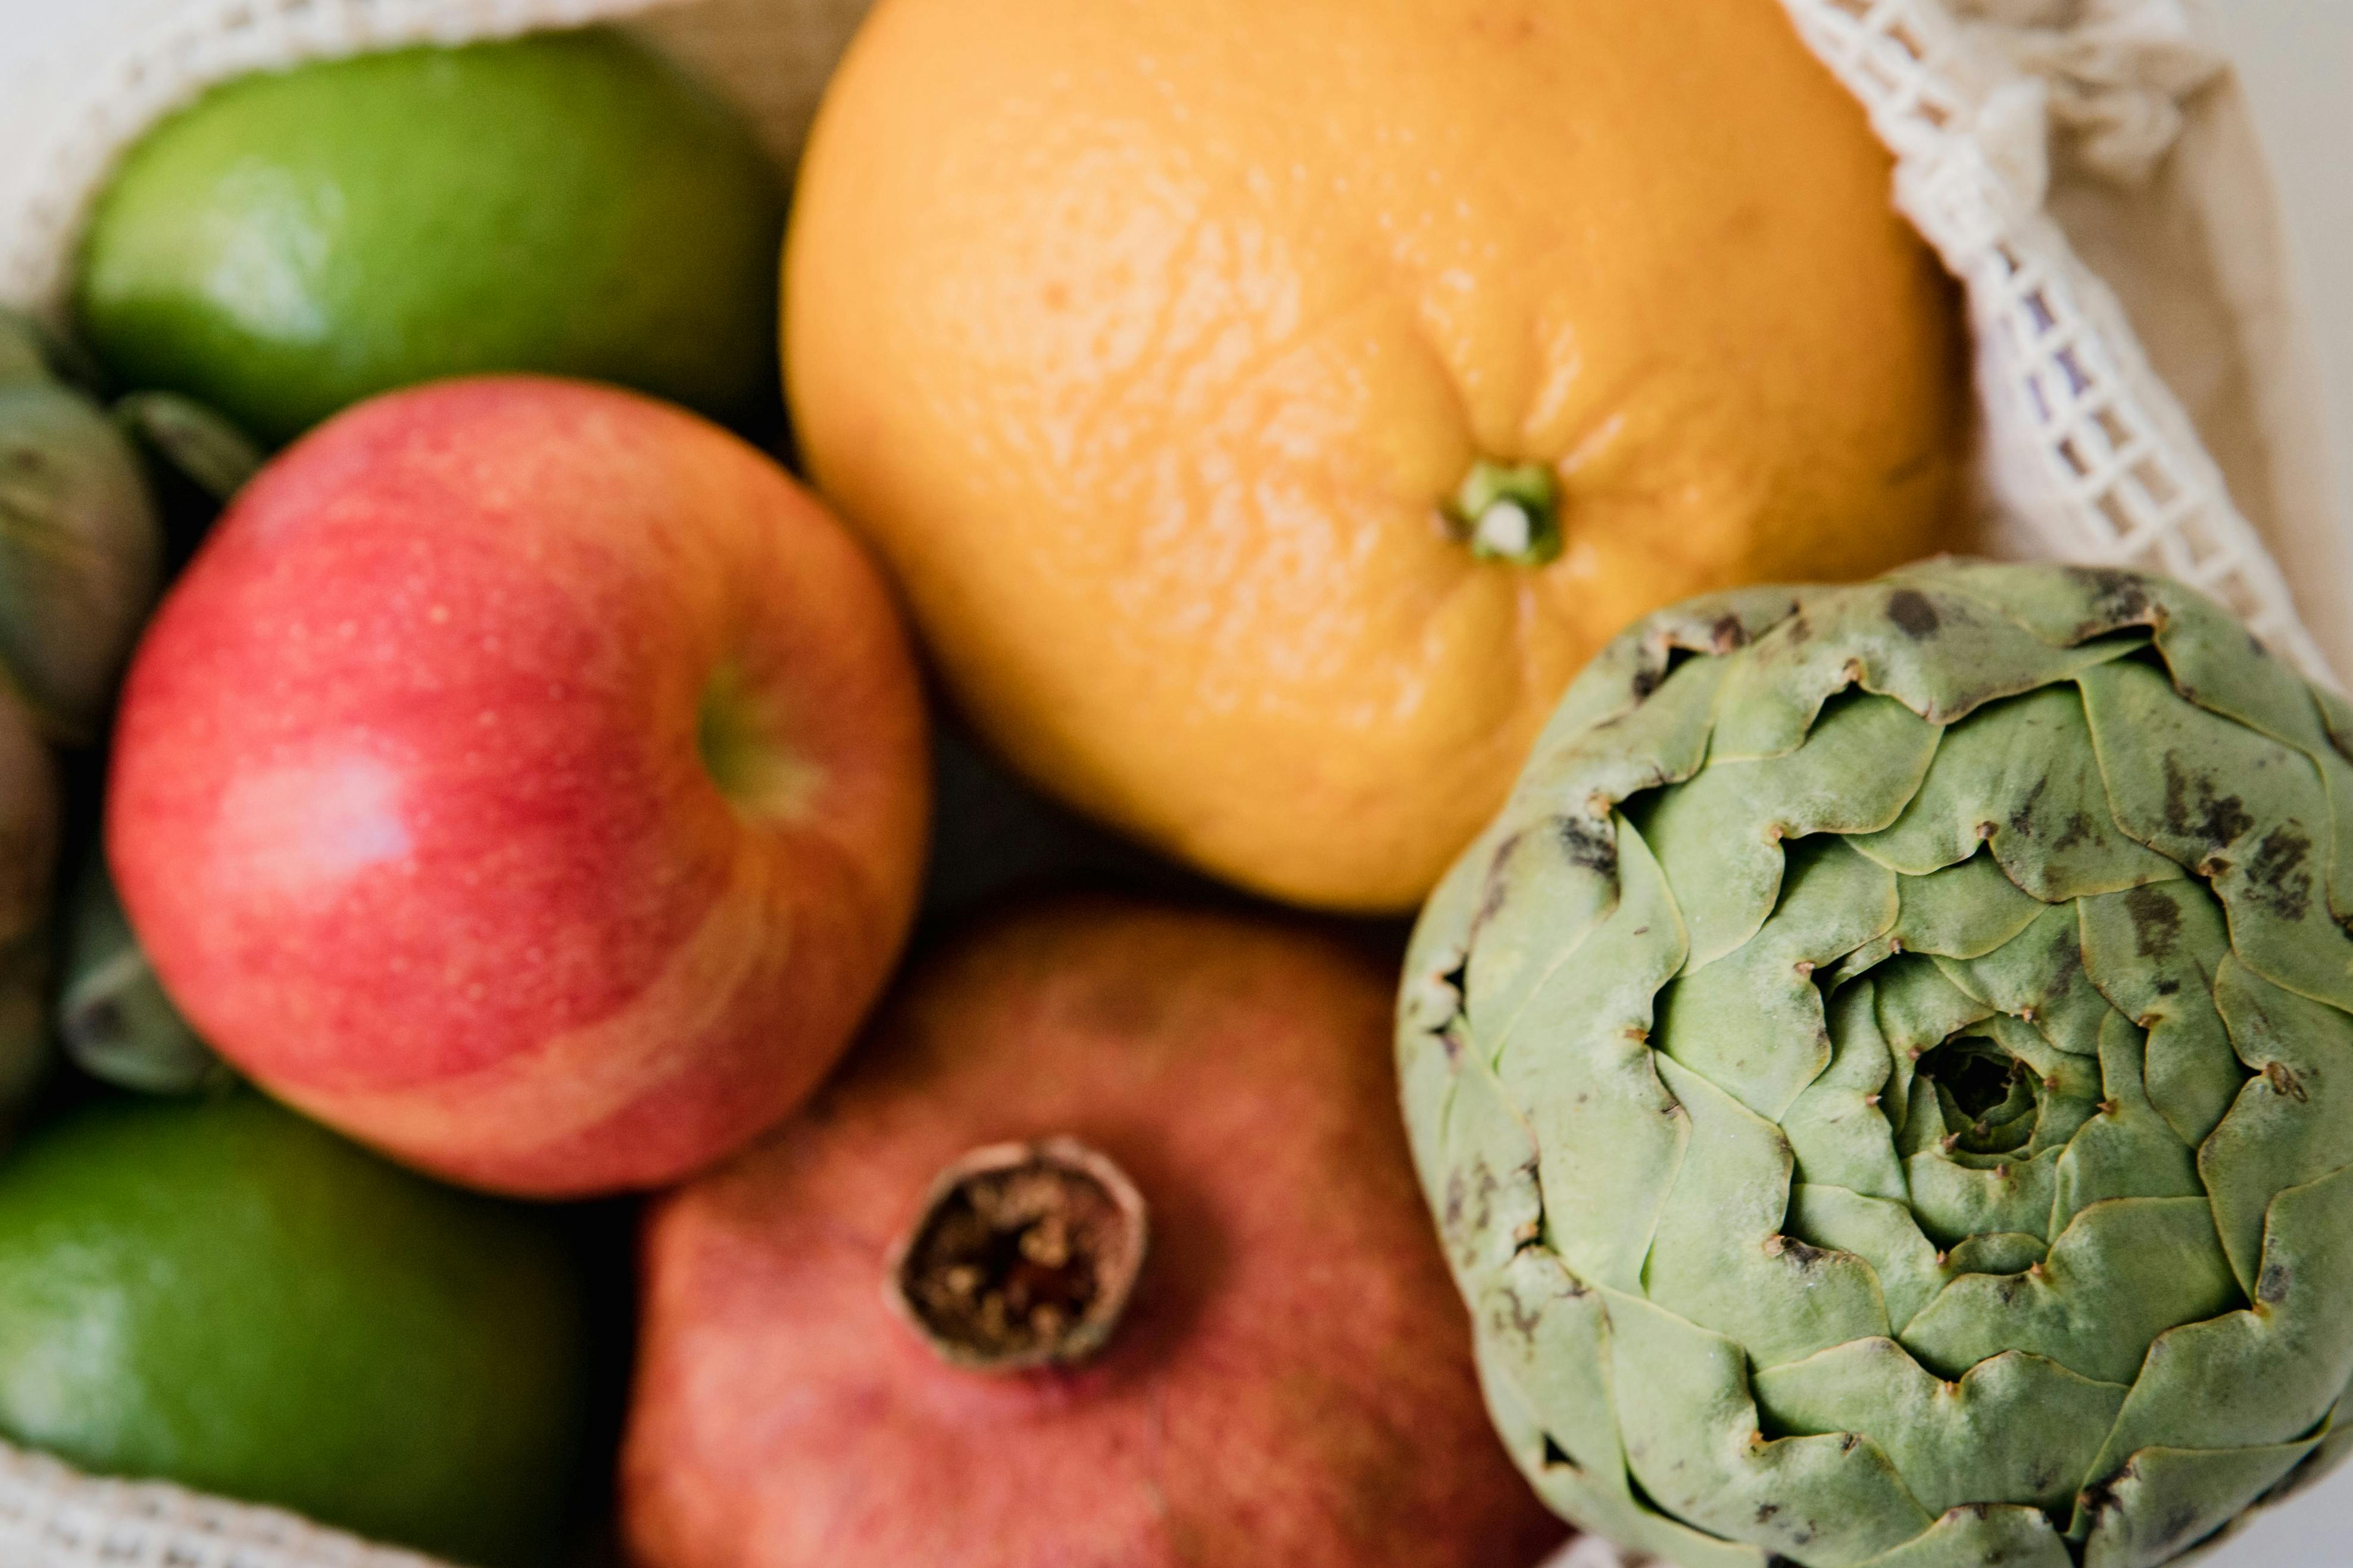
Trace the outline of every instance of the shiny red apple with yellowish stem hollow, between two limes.
{"type": "Polygon", "coordinates": [[[240,1069],[475,1187],[675,1180],[840,1055],[915,906],[889,591],[664,403],[485,377],[271,464],[122,697],[108,857],[240,1069]]]}

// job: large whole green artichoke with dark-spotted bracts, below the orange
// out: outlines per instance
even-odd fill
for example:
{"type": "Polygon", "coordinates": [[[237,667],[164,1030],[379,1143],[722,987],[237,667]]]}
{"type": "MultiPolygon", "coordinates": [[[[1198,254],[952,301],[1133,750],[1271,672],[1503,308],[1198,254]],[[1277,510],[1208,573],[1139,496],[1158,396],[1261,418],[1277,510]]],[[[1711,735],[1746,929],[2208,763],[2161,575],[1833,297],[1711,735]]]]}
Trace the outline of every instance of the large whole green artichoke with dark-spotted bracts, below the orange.
{"type": "Polygon", "coordinates": [[[2148,1568],[2344,1457],[2348,756],[2160,577],[1621,636],[1398,1024],[1544,1497],[1685,1568],[2148,1568]]]}

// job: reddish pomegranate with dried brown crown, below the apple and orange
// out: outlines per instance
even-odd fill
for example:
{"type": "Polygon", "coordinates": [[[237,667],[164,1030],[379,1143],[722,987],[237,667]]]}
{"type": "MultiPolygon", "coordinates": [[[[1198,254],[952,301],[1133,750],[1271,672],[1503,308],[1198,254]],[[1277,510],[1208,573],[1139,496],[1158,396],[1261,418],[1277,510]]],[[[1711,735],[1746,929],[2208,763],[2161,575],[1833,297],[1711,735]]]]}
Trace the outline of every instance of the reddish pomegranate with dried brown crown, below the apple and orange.
{"type": "Polygon", "coordinates": [[[1106,899],[918,965],[649,1210],[631,1561],[1534,1563],[1565,1528],[1480,1403],[1391,998],[1299,925],[1106,899]]]}

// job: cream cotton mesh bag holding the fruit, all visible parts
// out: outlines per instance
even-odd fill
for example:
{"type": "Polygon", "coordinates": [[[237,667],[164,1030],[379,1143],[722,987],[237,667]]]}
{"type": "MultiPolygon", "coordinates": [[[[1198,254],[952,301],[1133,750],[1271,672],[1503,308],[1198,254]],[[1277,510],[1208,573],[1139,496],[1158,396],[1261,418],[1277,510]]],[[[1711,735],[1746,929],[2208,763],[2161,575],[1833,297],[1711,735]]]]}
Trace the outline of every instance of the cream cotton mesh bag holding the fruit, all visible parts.
{"type": "MultiPolygon", "coordinates": [[[[2313,676],[2353,673],[2353,542],[2327,485],[2318,377],[2301,351],[2268,177],[2205,0],[1784,5],[1894,151],[1897,205],[1967,285],[1988,544],[2172,572],[2313,676]]],[[[47,66],[0,80],[0,301],[61,311],[78,226],[115,155],[233,75],[633,16],[791,158],[864,9],[68,5],[47,19],[47,66]]],[[[1621,1563],[1605,1542],[1581,1540],[1558,1568],[1621,1563]]],[[[275,1509],[92,1481],[5,1446],[0,1566],[431,1568],[275,1509]]]]}

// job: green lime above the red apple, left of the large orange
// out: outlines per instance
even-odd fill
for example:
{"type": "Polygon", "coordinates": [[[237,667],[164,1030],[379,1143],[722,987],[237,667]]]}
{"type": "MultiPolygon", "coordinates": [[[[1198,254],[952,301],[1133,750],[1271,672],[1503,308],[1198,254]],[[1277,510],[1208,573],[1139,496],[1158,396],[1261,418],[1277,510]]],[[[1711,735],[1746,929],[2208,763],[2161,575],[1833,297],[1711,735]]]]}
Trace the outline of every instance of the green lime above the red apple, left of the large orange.
{"type": "Polygon", "coordinates": [[[106,370],[282,443],[360,398],[536,370],[720,421],[776,398],[784,193],[751,132],[609,33],[249,75],[99,198],[78,311],[106,370]]]}

